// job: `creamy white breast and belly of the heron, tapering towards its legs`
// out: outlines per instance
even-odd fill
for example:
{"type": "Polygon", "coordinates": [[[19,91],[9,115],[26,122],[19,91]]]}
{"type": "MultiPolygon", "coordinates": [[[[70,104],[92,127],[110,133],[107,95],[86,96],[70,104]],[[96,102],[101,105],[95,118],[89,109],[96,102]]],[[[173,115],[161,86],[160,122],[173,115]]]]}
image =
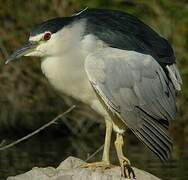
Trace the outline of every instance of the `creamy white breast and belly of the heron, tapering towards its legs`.
{"type": "Polygon", "coordinates": [[[78,54],[62,58],[49,57],[42,61],[41,68],[55,89],[90,105],[99,114],[107,115],[84,70],[83,57],[78,54]]]}

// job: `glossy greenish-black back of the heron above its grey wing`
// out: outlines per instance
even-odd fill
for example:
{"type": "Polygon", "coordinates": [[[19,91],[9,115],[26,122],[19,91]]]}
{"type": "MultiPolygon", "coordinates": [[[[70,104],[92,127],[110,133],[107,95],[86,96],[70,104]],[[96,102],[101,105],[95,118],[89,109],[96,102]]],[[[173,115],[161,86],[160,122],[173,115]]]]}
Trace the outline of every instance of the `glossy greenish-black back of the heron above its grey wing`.
{"type": "Polygon", "coordinates": [[[152,55],[164,67],[175,62],[166,39],[138,18],[116,10],[87,9],[77,16],[87,19],[86,34],[94,34],[109,46],[152,55]]]}

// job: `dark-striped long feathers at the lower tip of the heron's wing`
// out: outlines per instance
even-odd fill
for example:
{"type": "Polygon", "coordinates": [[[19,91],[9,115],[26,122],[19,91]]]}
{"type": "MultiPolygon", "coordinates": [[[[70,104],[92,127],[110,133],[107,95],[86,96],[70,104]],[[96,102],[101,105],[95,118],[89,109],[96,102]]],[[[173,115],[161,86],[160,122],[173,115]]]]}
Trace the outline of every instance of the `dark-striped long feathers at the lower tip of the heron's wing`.
{"type": "Polygon", "coordinates": [[[169,159],[172,151],[172,139],[165,124],[142,112],[142,125],[133,132],[162,161],[169,159]]]}

